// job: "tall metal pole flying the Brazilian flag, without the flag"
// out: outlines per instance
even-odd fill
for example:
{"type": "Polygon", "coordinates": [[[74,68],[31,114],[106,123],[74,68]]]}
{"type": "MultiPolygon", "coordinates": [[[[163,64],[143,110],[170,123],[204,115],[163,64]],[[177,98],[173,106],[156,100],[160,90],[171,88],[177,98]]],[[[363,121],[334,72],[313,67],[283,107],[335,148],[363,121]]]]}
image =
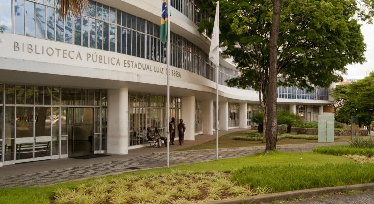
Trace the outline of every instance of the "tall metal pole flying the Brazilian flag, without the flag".
{"type": "Polygon", "coordinates": [[[167,167],[169,168],[170,164],[170,132],[169,132],[169,118],[170,118],[170,85],[169,85],[169,65],[170,65],[170,0],[167,0],[167,10],[166,16],[168,17],[168,39],[166,44],[166,131],[167,131],[167,167]]]}

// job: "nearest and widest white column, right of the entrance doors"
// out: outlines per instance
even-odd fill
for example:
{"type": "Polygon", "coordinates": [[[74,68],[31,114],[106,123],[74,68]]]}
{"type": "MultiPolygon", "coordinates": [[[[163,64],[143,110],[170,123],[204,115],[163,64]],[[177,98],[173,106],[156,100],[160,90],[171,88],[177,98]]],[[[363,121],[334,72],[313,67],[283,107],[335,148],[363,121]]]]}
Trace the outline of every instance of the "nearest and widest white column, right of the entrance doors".
{"type": "Polygon", "coordinates": [[[128,88],[108,90],[107,153],[128,154],[128,88]]]}

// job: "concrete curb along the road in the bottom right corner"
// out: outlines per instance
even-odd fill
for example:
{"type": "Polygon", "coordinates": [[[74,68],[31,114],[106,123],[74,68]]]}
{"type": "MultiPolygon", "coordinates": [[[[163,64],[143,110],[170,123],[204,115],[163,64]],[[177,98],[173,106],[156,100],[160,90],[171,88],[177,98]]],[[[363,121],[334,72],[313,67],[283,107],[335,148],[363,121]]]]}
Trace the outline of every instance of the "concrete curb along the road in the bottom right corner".
{"type": "Polygon", "coordinates": [[[276,200],[290,200],[295,199],[298,197],[303,198],[310,198],[317,195],[323,194],[330,194],[330,193],[339,193],[339,192],[347,192],[350,190],[359,190],[359,191],[367,191],[373,190],[374,183],[368,184],[355,184],[349,186],[339,186],[339,187],[323,187],[323,188],[312,188],[306,190],[296,190],[296,191],[288,191],[282,193],[271,193],[266,195],[256,195],[247,198],[239,198],[239,199],[227,199],[221,201],[214,201],[214,202],[203,202],[199,204],[239,204],[239,203],[271,203],[276,200]]]}

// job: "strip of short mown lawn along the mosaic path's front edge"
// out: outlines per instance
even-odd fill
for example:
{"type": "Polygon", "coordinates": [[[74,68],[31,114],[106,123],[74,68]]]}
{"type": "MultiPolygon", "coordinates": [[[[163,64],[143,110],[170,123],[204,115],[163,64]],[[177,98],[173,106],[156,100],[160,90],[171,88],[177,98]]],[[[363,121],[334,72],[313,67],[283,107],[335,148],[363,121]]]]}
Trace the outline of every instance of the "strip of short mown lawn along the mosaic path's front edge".
{"type": "MultiPolygon", "coordinates": [[[[175,174],[179,172],[207,172],[207,171],[224,171],[231,172],[244,166],[287,166],[293,165],[324,165],[327,163],[343,164],[353,163],[352,160],[332,155],[317,154],[312,152],[303,153],[272,153],[269,155],[253,155],[247,157],[240,157],[234,159],[221,159],[218,161],[199,162],[194,164],[185,164],[173,166],[169,169],[158,168],[150,170],[140,170],[134,172],[127,172],[120,175],[111,175],[100,177],[101,180],[110,181],[113,179],[126,178],[132,175],[157,175],[157,174],[175,174]]],[[[291,173],[291,172],[290,172],[291,173]]],[[[86,179],[82,181],[74,181],[62,184],[56,184],[46,187],[24,187],[24,188],[9,188],[0,189],[0,203],[9,204],[47,204],[50,203],[51,198],[55,192],[61,188],[75,189],[80,185],[92,185],[97,182],[98,178],[86,179]]]]}

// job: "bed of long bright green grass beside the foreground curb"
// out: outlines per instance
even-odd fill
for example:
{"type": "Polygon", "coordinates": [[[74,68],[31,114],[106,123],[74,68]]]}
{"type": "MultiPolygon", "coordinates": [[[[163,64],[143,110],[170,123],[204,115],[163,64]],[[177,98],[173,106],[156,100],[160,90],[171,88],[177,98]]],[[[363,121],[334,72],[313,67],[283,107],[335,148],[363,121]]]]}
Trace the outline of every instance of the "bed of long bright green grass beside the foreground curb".
{"type": "Polygon", "coordinates": [[[318,166],[247,166],[232,172],[231,177],[238,185],[285,192],[371,183],[374,182],[374,165],[345,163],[318,166]]]}

